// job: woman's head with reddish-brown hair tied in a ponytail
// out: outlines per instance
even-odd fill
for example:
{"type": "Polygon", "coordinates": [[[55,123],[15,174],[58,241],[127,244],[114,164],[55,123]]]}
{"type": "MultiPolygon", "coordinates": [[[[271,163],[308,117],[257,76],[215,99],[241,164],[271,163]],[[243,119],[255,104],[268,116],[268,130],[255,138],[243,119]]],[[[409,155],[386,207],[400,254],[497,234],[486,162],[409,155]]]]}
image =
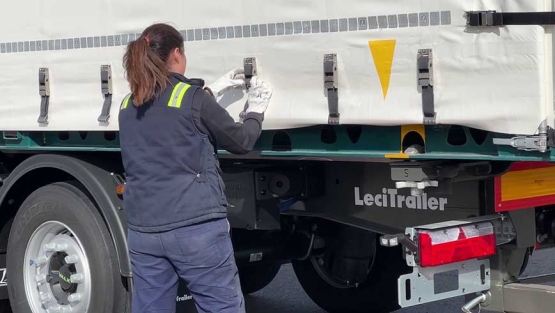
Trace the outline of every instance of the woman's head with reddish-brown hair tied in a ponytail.
{"type": "Polygon", "coordinates": [[[123,67],[135,105],[166,89],[171,72],[185,73],[183,41],[181,33],[172,26],[154,24],[127,45],[123,67]]]}

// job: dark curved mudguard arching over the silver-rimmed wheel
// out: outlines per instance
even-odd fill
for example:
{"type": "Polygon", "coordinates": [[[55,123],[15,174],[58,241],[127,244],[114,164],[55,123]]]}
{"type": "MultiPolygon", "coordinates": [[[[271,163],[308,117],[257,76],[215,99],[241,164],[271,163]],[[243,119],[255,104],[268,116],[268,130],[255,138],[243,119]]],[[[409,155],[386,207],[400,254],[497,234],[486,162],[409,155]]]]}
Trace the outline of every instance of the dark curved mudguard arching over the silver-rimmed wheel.
{"type": "Polygon", "coordinates": [[[93,157],[72,157],[60,154],[37,154],[20,163],[0,188],[0,205],[10,189],[22,178],[38,169],[57,169],[73,176],[91,194],[106,221],[116,249],[122,276],[131,277],[123,201],[117,196],[116,181],[107,168],[115,167],[93,157]]]}

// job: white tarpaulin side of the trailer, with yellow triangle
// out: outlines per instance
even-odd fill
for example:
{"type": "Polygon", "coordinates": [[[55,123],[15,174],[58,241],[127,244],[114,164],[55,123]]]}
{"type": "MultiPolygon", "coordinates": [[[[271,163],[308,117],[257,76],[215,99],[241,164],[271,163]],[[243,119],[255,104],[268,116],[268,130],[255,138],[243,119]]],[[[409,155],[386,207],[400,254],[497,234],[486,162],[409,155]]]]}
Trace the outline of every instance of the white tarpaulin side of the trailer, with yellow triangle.
{"type": "MultiPolygon", "coordinates": [[[[470,10],[551,10],[549,0],[5,0],[1,6],[0,130],[117,130],[118,107],[129,92],[125,44],[155,22],[182,31],[186,76],[207,84],[255,57],[274,89],[265,129],[328,123],[328,53],[337,54],[341,124],[421,124],[419,49],[433,50],[438,124],[510,134],[534,134],[544,121],[554,126],[552,30],[467,29],[464,17],[470,10]],[[101,65],[113,73],[108,124],[97,121],[101,65]],[[50,73],[47,125],[37,122],[39,68],[50,73]]],[[[239,121],[245,100],[237,91],[220,101],[239,121]]]]}

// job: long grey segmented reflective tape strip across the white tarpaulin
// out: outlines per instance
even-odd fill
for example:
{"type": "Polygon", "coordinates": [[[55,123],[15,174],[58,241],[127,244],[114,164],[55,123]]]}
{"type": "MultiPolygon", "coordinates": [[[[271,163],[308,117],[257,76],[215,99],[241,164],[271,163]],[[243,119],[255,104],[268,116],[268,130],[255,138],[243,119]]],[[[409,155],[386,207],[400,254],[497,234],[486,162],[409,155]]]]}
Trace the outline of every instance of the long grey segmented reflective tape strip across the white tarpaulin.
{"type": "MultiPolygon", "coordinates": [[[[332,34],[342,32],[376,31],[406,27],[438,27],[451,25],[451,11],[409,12],[401,14],[376,14],[370,16],[340,17],[322,20],[295,20],[258,23],[253,25],[215,25],[182,29],[179,32],[186,42],[235,40],[256,37],[300,36],[307,34],[332,34]]],[[[59,38],[47,40],[22,40],[0,42],[0,54],[32,53],[42,51],[107,49],[125,47],[140,36],[128,34],[59,38]]]]}

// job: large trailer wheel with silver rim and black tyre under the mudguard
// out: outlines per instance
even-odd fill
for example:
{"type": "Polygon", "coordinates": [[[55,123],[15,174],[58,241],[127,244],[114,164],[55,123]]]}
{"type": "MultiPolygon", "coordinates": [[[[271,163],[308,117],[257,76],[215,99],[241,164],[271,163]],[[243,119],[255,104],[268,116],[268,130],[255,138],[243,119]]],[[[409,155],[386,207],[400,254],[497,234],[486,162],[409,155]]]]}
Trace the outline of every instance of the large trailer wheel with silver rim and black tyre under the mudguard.
{"type": "Polygon", "coordinates": [[[14,313],[126,311],[110,233],[77,186],[37,189],[17,212],[7,257],[14,313]]]}

